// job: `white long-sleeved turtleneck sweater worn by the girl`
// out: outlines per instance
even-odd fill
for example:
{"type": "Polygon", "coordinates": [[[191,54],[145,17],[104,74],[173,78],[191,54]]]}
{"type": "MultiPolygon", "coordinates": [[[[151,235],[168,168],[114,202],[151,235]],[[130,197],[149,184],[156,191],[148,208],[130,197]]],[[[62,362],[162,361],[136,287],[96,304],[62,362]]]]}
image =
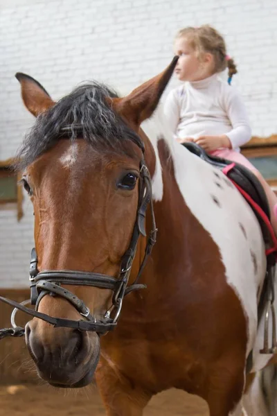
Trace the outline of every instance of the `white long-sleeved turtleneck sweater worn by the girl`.
{"type": "Polygon", "coordinates": [[[226,135],[236,151],[251,139],[240,94],[217,73],[173,89],[166,98],[164,112],[175,139],[226,135]]]}

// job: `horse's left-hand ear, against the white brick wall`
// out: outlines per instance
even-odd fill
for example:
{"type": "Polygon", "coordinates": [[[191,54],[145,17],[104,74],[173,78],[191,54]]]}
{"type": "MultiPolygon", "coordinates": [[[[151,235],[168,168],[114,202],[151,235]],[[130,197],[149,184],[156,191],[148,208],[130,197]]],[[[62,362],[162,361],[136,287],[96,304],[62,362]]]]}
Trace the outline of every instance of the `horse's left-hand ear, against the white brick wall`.
{"type": "Polygon", "coordinates": [[[15,78],[21,85],[21,96],[30,113],[37,117],[55,105],[48,92],[34,78],[26,73],[17,72],[15,78]]]}

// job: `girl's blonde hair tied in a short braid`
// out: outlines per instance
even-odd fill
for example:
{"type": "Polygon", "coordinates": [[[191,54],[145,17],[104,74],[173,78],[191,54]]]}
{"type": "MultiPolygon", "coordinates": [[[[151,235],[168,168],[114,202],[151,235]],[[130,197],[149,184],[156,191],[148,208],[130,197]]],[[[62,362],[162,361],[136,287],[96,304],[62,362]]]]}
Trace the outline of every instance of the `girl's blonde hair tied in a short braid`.
{"type": "Polygon", "coordinates": [[[179,37],[186,37],[193,49],[197,51],[199,59],[201,59],[203,53],[211,53],[215,62],[215,72],[224,71],[228,67],[229,83],[231,83],[232,76],[238,71],[233,59],[226,55],[226,45],[220,33],[208,24],[205,24],[198,28],[188,27],[181,29],[177,33],[176,38],[179,37]]]}

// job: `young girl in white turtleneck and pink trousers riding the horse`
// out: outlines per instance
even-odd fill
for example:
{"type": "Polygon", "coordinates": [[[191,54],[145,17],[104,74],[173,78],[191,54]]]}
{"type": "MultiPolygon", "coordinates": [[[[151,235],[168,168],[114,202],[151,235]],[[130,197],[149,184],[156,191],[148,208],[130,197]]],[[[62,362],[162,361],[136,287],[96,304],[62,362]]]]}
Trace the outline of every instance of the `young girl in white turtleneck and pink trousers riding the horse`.
{"type": "Polygon", "coordinates": [[[181,81],[166,98],[164,111],[172,135],[180,143],[195,141],[206,152],[249,168],[265,189],[271,224],[277,235],[277,197],[259,171],[240,153],[251,139],[251,128],[242,98],[231,78],[237,72],[226,55],[223,37],[208,25],[184,28],[175,38],[179,60],[175,72],[181,81]],[[229,68],[229,83],[218,73],[229,68]]]}

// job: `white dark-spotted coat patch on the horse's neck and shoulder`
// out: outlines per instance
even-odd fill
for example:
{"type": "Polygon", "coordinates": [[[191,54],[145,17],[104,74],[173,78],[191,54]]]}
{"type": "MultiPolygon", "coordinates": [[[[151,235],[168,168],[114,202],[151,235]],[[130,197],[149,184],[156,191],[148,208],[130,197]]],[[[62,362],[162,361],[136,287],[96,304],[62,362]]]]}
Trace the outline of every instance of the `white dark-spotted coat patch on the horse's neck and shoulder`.
{"type": "MultiPolygon", "coordinates": [[[[162,121],[160,112],[158,118],[155,116],[151,120],[156,128],[151,131],[143,127],[149,134],[158,161],[153,177],[155,196],[163,196],[161,163],[157,152],[157,141],[161,136],[159,132],[162,132],[172,155],[181,195],[192,214],[217,244],[226,269],[226,282],[242,304],[248,327],[248,355],[256,343],[257,293],[265,278],[266,268],[265,245],[258,220],[226,176],[168,135],[162,121]]],[[[269,359],[268,356],[259,358],[258,367],[265,365],[269,359]]]]}

